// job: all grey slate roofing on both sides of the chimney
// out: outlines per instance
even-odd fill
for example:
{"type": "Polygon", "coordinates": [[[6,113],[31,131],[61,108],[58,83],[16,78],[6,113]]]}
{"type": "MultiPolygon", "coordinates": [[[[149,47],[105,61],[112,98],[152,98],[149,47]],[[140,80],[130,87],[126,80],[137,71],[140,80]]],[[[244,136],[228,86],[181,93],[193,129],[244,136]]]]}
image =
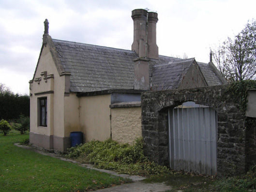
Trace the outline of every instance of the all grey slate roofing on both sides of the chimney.
{"type": "MultiPolygon", "coordinates": [[[[134,59],[137,58],[134,51],[54,39],[52,41],[63,69],[71,73],[70,91],[86,93],[134,89],[134,59]]],[[[150,75],[155,73],[159,77],[153,82],[166,89],[177,87],[179,77],[188,69],[191,61],[162,55],[159,55],[158,60],[151,59],[150,75]]],[[[215,73],[205,65],[200,64],[205,78],[209,79],[210,84],[218,84],[215,73]]]]}

